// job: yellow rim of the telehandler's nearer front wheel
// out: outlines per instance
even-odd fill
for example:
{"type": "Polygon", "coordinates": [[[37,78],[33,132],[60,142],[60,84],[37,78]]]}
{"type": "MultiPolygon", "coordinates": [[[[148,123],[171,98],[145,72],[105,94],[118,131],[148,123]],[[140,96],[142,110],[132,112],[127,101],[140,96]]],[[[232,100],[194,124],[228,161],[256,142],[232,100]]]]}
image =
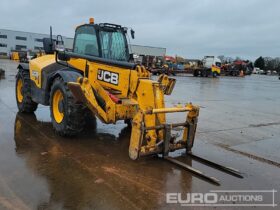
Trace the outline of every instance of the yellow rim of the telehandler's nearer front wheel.
{"type": "Polygon", "coordinates": [[[63,94],[61,90],[56,90],[53,95],[52,111],[54,120],[61,123],[64,117],[63,113],[63,94]]]}

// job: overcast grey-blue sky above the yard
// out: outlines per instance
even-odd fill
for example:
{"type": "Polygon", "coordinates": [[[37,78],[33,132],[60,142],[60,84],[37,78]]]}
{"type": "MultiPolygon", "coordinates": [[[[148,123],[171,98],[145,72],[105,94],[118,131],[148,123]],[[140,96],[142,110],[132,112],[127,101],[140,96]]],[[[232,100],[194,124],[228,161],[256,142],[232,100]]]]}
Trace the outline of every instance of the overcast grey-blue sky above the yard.
{"type": "Polygon", "coordinates": [[[277,0],[1,0],[0,28],[73,37],[94,17],[132,27],[132,44],[167,48],[168,55],[255,59],[280,56],[277,0]]]}

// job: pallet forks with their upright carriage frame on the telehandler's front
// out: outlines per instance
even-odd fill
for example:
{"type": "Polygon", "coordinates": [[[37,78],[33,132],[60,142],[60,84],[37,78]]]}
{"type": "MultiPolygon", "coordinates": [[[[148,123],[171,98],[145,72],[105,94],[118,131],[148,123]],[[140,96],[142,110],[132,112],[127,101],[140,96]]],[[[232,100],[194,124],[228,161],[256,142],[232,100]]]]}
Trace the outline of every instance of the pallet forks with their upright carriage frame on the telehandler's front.
{"type": "MultiPolygon", "coordinates": [[[[157,144],[158,146],[158,152],[161,153],[161,157],[168,161],[169,163],[175,164],[176,166],[191,172],[200,178],[215,184],[215,185],[220,185],[220,180],[210,176],[208,174],[205,174],[204,172],[184,163],[181,162],[171,156],[169,156],[170,152],[173,152],[178,149],[186,149],[186,155],[187,157],[190,157],[198,162],[201,162],[205,165],[208,165],[212,168],[215,168],[217,170],[220,170],[224,173],[230,174],[232,176],[238,177],[238,178],[243,178],[241,172],[239,172],[237,169],[234,169],[232,167],[228,166],[223,166],[221,164],[212,162],[210,160],[207,160],[205,158],[199,157],[197,155],[194,155],[192,153],[192,147],[194,144],[194,139],[195,139],[195,133],[196,133],[196,127],[197,127],[197,117],[198,117],[198,112],[199,108],[192,105],[188,104],[186,107],[181,107],[181,108],[165,108],[165,109],[153,109],[151,111],[146,112],[146,114],[158,114],[158,113],[174,113],[174,112],[189,112],[187,115],[187,120],[183,123],[173,123],[173,124],[162,124],[154,127],[142,127],[143,133],[148,130],[163,130],[164,133],[164,138],[163,141],[159,142],[157,144]],[[183,139],[180,141],[172,142],[172,137],[171,131],[175,128],[178,127],[183,127],[184,130],[184,136],[183,139]]],[[[174,139],[175,140],[175,139],[174,139]]]]}

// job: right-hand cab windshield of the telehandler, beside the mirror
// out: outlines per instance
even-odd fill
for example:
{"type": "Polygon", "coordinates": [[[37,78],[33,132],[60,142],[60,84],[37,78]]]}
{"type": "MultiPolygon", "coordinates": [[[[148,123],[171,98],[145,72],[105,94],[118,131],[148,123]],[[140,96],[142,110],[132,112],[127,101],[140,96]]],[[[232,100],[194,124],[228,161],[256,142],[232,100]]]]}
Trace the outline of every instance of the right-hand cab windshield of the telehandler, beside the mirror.
{"type": "Polygon", "coordinates": [[[125,35],[121,30],[101,30],[102,57],[117,61],[128,61],[125,35]]]}

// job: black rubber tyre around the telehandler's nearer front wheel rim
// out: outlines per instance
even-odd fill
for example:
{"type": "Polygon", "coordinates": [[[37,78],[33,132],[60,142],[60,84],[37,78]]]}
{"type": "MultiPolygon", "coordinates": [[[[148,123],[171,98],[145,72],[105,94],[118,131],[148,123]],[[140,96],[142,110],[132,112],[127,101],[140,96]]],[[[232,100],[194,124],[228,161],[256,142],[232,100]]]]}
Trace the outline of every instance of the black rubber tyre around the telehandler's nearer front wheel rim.
{"type": "Polygon", "coordinates": [[[61,136],[74,136],[80,133],[86,124],[87,107],[75,102],[75,99],[67,87],[67,84],[61,79],[56,78],[51,87],[50,93],[50,112],[52,125],[55,131],[61,136]],[[56,91],[60,91],[63,96],[61,103],[62,121],[57,122],[54,117],[53,100],[56,91]]]}

